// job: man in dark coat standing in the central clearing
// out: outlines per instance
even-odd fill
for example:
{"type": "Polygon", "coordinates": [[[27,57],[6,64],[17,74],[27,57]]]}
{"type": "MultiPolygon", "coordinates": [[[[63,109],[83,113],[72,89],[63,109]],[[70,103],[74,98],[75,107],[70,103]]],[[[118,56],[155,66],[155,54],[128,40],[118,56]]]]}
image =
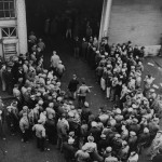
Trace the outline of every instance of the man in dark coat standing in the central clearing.
{"type": "Polygon", "coordinates": [[[72,79],[70,80],[70,82],[68,84],[68,90],[70,92],[70,97],[72,99],[76,99],[76,92],[77,92],[78,84],[79,84],[79,81],[77,80],[77,76],[73,75],[72,79]]]}

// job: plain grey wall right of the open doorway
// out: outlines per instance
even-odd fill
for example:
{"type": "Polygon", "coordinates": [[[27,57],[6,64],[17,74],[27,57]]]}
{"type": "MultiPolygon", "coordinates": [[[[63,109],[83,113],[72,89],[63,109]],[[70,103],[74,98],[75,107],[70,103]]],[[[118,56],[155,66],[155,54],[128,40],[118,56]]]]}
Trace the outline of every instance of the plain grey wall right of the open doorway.
{"type": "Polygon", "coordinates": [[[131,40],[138,45],[157,45],[160,44],[161,33],[161,0],[113,0],[110,44],[131,40]]]}

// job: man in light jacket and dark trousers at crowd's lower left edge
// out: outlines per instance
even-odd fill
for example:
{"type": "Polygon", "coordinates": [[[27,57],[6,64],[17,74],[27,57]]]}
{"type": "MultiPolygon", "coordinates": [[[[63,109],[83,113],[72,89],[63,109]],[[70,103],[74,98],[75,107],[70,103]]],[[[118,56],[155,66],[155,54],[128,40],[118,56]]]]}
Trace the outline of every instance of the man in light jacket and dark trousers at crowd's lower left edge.
{"type": "Polygon", "coordinates": [[[38,120],[38,124],[32,126],[32,131],[36,132],[37,137],[37,147],[40,148],[41,151],[44,151],[44,144],[45,144],[45,129],[42,124],[41,120],[38,120]]]}

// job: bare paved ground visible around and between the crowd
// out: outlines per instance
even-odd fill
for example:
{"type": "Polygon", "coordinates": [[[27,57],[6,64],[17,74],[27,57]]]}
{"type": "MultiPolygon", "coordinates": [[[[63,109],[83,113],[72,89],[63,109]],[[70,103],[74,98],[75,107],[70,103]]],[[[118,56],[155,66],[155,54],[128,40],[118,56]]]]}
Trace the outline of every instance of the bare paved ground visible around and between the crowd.
{"type": "MultiPolygon", "coordinates": [[[[87,96],[87,102],[94,113],[97,113],[99,106],[106,106],[111,108],[112,104],[105,98],[105,93],[102,92],[98,84],[95,82],[94,70],[92,70],[85,62],[81,59],[76,59],[72,57],[72,50],[69,42],[66,40],[58,39],[45,39],[48,42],[48,52],[45,53],[44,62],[45,67],[49,67],[49,60],[52,50],[56,50],[63,63],[66,67],[66,73],[63,77],[63,89],[67,90],[67,83],[69,82],[72,73],[76,73],[79,79],[84,78],[86,84],[92,86],[91,94],[87,96]]],[[[145,72],[144,75],[151,73],[156,80],[154,84],[159,85],[159,93],[161,93],[162,87],[160,83],[162,82],[162,58],[151,57],[145,59],[145,72]],[[153,66],[148,65],[152,63],[153,66]]],[[[3,96],[3,94],[1,94],[3,96]]],[[[6,94],[5,94],[6,95],[6,94]]],[[[8,96],[8,95],[6,95],[8,96]]],[[[5,100],[8,105],[10,100],[5,100]]],[[[0,139],[0,162],[64,162],[63,154],[55,148],[55,146],[48,145],[51,150],[45,152],[40,152],[36,148],[35,139],[30,140],[29,144],[24,144],[21,141],[19,136],[11,136],[5,129],[6,140],[0,139]]],[[[146,156],[140,157],[140,162],[147,162],[146,156]]]]}

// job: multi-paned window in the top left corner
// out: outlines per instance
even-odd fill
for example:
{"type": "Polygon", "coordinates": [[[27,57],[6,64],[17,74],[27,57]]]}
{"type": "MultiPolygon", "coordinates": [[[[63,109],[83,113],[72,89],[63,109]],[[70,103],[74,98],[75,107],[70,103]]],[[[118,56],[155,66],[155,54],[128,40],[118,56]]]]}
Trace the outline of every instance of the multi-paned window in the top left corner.
{"type": "Polygon", "coordinates": [[[15,17],[15,2],[14,0],[0,0],[0,18],[15,17]]]}

